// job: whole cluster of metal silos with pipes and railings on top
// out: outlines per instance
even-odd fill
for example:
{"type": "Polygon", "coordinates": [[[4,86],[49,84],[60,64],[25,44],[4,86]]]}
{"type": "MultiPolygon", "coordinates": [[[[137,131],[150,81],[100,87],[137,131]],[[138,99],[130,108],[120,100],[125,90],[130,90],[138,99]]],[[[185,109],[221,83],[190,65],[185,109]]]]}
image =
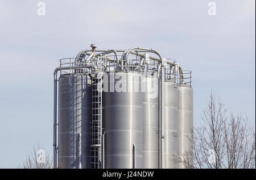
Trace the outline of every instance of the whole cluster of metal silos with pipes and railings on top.
{"type": "Polygon", "coordinates": [[[91,47],[54,72],[54,168],[185,168],[174,160],[192,150],[191,72],[154,49],[91,47]]]}

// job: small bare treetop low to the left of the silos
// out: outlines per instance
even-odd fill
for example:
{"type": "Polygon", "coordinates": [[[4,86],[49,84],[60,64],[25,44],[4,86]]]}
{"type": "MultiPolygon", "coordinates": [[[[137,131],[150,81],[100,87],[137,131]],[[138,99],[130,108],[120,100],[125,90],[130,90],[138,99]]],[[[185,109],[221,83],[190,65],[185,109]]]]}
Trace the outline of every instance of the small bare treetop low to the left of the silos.
{"type": "Polygon", "coordinates": [[[52,157],[40,150],[43,149],[40,145],[36,149],[34,146],[33,152],[29,153],[26,160],[19,168],[23,169],[51,169],[52,157]]]}

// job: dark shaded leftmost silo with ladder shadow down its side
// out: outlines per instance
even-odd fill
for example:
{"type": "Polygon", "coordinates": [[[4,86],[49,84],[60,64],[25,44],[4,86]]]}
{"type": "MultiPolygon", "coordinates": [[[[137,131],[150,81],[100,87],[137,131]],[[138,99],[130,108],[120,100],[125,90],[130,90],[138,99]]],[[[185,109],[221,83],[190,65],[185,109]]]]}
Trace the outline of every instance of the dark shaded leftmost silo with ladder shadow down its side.
{"type": "Polygon", "coordinates": [[[59,168],[90,168],[91,84],[84,74],[59,78],[59,168]]]}

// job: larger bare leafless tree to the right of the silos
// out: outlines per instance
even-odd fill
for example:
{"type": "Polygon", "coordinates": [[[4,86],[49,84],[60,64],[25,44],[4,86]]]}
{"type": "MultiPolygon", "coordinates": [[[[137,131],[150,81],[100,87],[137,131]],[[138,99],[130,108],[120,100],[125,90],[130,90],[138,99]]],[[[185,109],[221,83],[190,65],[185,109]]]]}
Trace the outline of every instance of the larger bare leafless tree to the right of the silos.
{"type": "Polygon", "coordinates": [[[255,129],[241,114],[227,115],[213,93],[201,115],[203,124],[193,129],[190,151],[176,157],[185,168],[255,168],[255,129]]]}

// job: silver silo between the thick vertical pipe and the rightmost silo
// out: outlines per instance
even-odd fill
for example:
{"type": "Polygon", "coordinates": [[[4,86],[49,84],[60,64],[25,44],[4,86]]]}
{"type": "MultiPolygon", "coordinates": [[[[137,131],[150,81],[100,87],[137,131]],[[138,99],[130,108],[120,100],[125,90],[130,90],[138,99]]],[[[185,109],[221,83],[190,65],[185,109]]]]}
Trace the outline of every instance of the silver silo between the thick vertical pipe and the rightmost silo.
{"type": "Polygon", "coordinates": [[[164,168],[177,168],[174,159],[177,156],[177,85],[165,82],[165,132],[164,132],[164,168]]]}

